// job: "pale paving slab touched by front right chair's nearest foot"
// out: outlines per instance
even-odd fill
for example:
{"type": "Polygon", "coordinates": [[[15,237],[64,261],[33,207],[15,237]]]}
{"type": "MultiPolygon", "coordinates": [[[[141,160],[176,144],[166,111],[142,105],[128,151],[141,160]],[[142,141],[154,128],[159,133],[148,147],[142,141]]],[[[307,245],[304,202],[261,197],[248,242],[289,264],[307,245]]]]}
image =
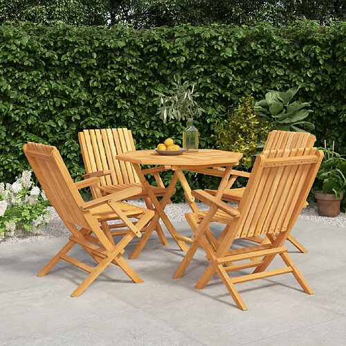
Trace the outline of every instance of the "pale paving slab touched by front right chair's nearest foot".
{"type": "MultiPolygon", "coordinates": [[[[145,308],[177,330],[207,345],[241,345],[302,327],[337,320],[336,313],[325,311],[307,300],[296,300],[268,288],[239,292],[248,306],[240,311],[226,291],[219,295],[198,291],[198,297],[145,308]]],[[[302,293],[304,294],[304,293],[302,293]]]]}

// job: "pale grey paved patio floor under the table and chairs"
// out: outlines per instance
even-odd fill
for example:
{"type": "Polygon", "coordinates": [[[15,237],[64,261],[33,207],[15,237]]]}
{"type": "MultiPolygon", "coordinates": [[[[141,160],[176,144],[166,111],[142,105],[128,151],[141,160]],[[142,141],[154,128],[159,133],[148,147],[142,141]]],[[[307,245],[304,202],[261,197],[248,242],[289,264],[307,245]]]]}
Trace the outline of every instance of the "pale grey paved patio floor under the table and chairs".
{"type": "MultiPolygon", "coordinates": [[[[176,228],[190,235],[185,222],[176,228]]],[[[183,253],[170,237],[162,246],[152,235],[129,261],[143,284],[110,266],[79,298],[69,295],[86,273],[71,264],[36,276],[66,239],[1,246],[0,345],[346,345],[346,228],[299,219],[293,235],[309,249],[286,244],[315,294],[291,274],[238,284],[248,311],[217,277],[194,289],[207,265],[201,249],[185,276],[172,279],[183,253]]],[[[88,258],[77,246],[71,254],[88,258]]]]}

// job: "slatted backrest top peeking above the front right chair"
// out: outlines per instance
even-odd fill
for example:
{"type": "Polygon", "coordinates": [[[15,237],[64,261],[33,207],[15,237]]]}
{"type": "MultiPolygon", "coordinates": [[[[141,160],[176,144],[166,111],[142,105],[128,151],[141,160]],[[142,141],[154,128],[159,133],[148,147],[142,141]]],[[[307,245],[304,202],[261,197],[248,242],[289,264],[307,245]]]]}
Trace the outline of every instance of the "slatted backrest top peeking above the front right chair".
{"type": "Polygon", "coordinates": [[[271,131],[263,151],[313,147],[316,137],[307,132],[271,131]]]}

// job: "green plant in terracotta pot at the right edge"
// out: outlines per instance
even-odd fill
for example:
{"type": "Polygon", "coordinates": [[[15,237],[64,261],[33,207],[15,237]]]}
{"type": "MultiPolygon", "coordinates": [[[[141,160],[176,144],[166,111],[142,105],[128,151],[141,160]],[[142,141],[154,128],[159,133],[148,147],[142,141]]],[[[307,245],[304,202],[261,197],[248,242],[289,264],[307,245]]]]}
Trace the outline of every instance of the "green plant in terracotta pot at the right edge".
{"type": "Polygon", "coordinates": [[[318,214],[336,217],[340,213],[340,203],[346,189],[346,159],[333,149],[321,149],[325,157],[316,176],[321,188],[315,191],[318,214]]]}

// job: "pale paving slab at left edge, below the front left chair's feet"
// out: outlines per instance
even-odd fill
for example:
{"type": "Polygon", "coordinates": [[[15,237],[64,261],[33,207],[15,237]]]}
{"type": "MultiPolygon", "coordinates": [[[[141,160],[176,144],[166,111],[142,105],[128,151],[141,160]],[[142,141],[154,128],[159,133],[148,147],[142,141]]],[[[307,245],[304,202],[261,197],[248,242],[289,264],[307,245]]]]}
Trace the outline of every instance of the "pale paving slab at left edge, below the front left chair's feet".
{"type": "Polygon", "coordinates": [[[78,322],[87,322],[92,329],[93,320],[107,320],[107,315],[116,312],[135,311],[114,296],[93,290],[84,292],[79,298],[71,298],[69,293],[75,284],[71,283],[69,289],[66,286],[54,284],[50,288],[37,286],[0,293],[0,340],[78,322]]]}

